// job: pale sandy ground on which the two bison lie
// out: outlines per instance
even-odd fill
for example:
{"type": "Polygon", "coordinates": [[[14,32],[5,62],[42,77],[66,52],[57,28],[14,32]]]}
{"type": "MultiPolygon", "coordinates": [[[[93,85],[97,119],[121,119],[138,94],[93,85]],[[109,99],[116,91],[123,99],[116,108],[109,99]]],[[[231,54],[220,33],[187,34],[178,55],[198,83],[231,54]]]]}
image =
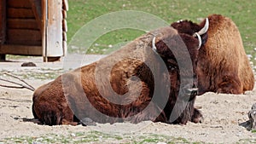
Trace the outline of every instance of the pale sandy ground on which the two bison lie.
{"type": "MultiPolygon", "coordinates": [[[[78,58],[78,56],[81,55],[73,56],[78,58]]],[[[99,58],[100,57],[96,55],[87,56],[84,61],[74,61],[78,59],[71,58],[70,60],[73,60],[76,65],[70,66],[81,66],[99,58]]],[[[68,62],[66,60],[44,63],[42,62],[42,58],[38,57],[0,62],[0,78],[9,78],[3,75],[3,72],[10,72],[24,78],[26,82],[37,88],[41,84],[52,80],[53,78],[50,77],[51,74],[55,74],[55,76],[61,74],[63,66],[67,64],[68,62]],[[32,61],[37,66],[21,67],[20,65],[26,61],[32,61]],[[32,75],[32,73],[37,73],[38,75],[32,75]],[[24,75],[27,77],[24,77],[24,75]],[[38,78],[39,76],[40,78],[38,78]]],[[[1,84],[3,83],[1,82],[1,84]]],[[[86,134],[92,130],[112,135],[126,135],[125,138],[119,141],[108,140],[107,143],[132,143],[132,141],[134,141],[132,139],[138,139],[140,135],[152,134],[182,137],[191,142],[249,143],[256,141],[256,133],[247,131],[246,128],[240,126],[240,124],[248,120],[247,112],[254,102],[256,102],[256,89],[248,91],[245,95],[207,93],[198,96],[195,106],[200,107],[203,113],[204,122],[202,124],[188,123],[186,125],[172,125],[142,122],[140,124],[97,124],[96,126],[88,127],[81,125],[46,126],[35,124],[31,121],[26,122],[33,118],[31,108],[32,91],[27,89],[0,88],[0,143],[1,141],[5,143],[5,141],[7,141],[6,138],[20,137],[22,135],[32,137],[40,137],[49,134],[75,135],[78,132],[86,134]]],[[[167,140],[158,141],[158,143],[165,142],[167,142],[167,140]]],[[[154,141],[153,143],[157,142],[154,141]]]]}

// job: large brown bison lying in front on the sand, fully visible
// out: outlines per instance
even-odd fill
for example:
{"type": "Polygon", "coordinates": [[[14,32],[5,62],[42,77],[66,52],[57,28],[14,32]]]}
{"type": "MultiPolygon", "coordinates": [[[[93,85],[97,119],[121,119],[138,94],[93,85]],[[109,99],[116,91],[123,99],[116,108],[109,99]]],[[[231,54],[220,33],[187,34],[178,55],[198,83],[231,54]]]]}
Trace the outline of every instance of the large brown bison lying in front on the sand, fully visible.
{"type": "Polygon", "coordinates": [[[39,87],[33,115],[48,125],[76,125],[84,118],[97,123],[198,123],[195,68],[202,42],[206,39],[198,33],[193,37],[170,26],[148,32],[39,87]]]}

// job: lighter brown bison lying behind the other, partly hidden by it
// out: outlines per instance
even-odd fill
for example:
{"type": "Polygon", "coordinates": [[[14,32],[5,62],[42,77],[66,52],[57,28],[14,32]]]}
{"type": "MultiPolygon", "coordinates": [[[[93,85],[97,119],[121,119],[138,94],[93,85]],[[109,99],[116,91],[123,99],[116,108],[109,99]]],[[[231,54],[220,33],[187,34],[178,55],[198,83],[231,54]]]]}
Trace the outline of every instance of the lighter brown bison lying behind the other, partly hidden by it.
{"type": "MultiPolygon", "coordinates": [[[[252,90],[253,70],[236,24],[220,14],[212,14],[208,16],[208,20],[207,42],[198,55],[198,94],[207,91],[241,94],[252,90]]],[[[198,26],[191,21],[181,20],[171,26],[180,33],[192,36],[204,23],[203,21],[198,26]]]]}

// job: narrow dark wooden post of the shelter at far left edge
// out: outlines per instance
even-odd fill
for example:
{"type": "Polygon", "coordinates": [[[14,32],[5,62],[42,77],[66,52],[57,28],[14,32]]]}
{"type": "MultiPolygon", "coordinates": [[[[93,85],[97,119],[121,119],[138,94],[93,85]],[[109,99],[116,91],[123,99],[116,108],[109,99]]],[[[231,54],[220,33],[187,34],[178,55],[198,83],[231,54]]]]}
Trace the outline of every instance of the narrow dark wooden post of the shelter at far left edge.
{"type": "MultiPolygon", "coordinates": [[[[0,49],[6,40],[6,0],[0,0],[0,49]]],[[[0,54],[0,60],[6,60],[4,54],[0,54]]]]}

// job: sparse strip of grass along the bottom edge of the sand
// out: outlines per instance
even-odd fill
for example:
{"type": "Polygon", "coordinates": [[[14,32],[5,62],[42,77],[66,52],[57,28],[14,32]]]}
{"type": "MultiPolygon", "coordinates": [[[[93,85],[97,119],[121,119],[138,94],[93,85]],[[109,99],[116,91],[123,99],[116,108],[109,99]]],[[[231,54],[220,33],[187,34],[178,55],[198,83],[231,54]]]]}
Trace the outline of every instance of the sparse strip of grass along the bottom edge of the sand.
{"type": "Polygon", "coordinates": [[[37,136],[20,136],[20,137],[9,137],[3,139],[3,143],[106,143],[114,141],[113,143],[127,143],[127,144],[148,144],[157,142],[166,142],[168,144],[174,143],[204,143],[199,141],[189,141],[182,137],[173,137],[169,135],[153,135],[153,134],[143,134],[143,135],[115,135],[107,134],[99,131],[90,132],[77,132],[70,133],[67,135],[55,135],[48,134],[37,136]]]}

